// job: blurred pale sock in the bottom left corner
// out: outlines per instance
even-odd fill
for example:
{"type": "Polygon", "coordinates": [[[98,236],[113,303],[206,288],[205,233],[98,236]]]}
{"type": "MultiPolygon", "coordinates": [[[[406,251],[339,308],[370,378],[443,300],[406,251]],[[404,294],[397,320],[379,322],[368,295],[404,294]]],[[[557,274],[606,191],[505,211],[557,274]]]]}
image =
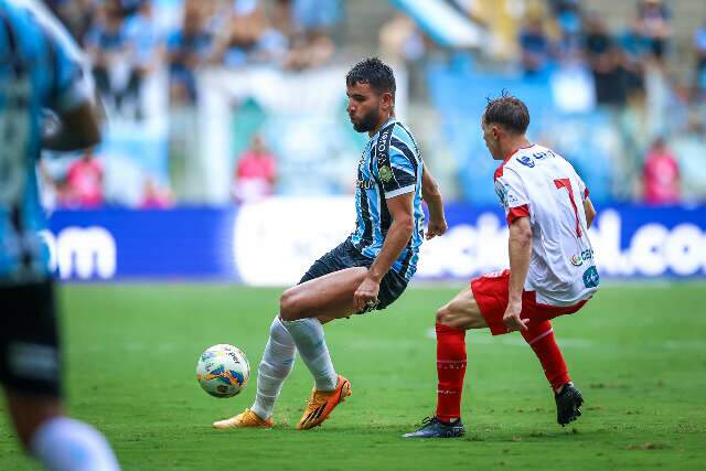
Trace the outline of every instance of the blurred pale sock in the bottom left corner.
{"type": "Polygon", "coordinates": [[[119,471],[110,445],[98,430],[68,417],[42,424],[32,437],[31,451],[51,471],[119,471]]]}

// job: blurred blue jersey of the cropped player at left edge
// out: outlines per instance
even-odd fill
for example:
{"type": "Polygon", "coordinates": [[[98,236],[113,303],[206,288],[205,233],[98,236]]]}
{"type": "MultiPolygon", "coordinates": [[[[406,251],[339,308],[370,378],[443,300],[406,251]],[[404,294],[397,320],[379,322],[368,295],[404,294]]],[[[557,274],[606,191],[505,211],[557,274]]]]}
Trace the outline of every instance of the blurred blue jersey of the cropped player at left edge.
{"type": "Polygon", "coordinates": [[[0,0],[0,282],[49,276],[36,163],[45,109],[84,104],[78,49],[45,10],[0,0]],[[54,22],[54,23],[52,23],[54,22]],[[72,49],[72,47],[75,47],[72,49]]]}

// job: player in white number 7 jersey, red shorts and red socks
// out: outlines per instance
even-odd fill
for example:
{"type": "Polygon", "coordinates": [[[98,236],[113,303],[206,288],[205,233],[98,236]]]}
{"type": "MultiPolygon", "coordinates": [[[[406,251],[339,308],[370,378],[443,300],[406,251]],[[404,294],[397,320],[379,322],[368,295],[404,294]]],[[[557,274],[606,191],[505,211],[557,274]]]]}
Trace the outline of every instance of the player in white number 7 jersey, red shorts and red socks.
{"type": "Polygon", "coordinates": [[[559,425],[581,415],[584,398],[571,383],[550,320],[578,311],[598,289],[587,234],[596,211],[571,164],[527,140],[528,125],[525,104],[505,94],[490,100],[483,114],[483,139],[493,159],[502,161],[495,192],[510,227],[510,269],[472,280],[437,312],[437,410],[405,437],[466,432],[461,392],[468,329],[488,328],[493,335],[520,331],[554,389],[559,425]]]}

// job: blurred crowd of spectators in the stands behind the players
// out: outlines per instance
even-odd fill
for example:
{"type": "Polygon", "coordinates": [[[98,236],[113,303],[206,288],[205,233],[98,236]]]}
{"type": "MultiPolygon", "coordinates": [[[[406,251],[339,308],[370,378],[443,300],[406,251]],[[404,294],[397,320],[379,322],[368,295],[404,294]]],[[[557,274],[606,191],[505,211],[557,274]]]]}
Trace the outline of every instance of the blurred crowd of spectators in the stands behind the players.
{"type": "MultiPolygon", "coordinates": [[[[350,44],[340,30],[350,21],[346,13],[356,8],[352,2],[338,0],[47,3],[87,51],[108,115],[136,122],[149,114],[141,90],[150,76],[160,72],[168,77],[167,109],[174,117],[180,109],[193,109],[199,103],[196,74],[203,66],[227,69],[268,66],[296,73],[346,62],[350,44]]],[[[520,2],[524,8],[521,14],[515,13],[511,29],[488,15],[490,3],[456,1],[489,38],[502,34],[510,38],[506,47],[449,50],[435,42],[418,21],[391,8],[389,19],[378,33],[378,51],[374,52],[410,71],[410,101],[422,105],[413,109],[436,106],[430,103],[434,100],[429,98],[426,71],[440,61],[454,66],[459,57],[464,57],[466,67],[477,76],[485,71],[492,74],[498,68],[514,68],[530,82],[550,81],[557,71],[566,76],[567,71],[581,69],[584,82],[592,88],[591,107],[608,116],[609,127],[617,130],[614,138],[607,138],[617,141],[607,158],[612,181],[607,199],[651,204],[706,200],[706,22],[689,32],[687,56],[693,61],[684,74],[684,64],[675,64],[675,57],[683,55],[677,55],[668,2],[634,0],[633,18],[625,18],[621,28],[612,30],[601,14],[591,11],[588,2],[579,0],[520,2]],[[490,54],[488,50],[495,52],[490,54]]],[[[539,124],[535,130],[537,140],[563,150],[550,129],[539,124]]],[[[420,135],[424,148],[425,136],[420,135]]],[[[243,148],[233,156],[233,201],[247,201],[247,195],[253,194],[264,197],[287,193],[280,185],[279,169],[275,170],[280,167],[278,160],[286,156],[265,151],[271,148],[270,142],[257,129],[244,139],[252,140],[253,148],[243,148]],[[258,160],[257,156],[263,153],[265,160],[258,160]],[[239,159],[243,161],[238,163],[239,159]]],[[[176,161],[180,149],[174,147],[170,159],[176,161]]],[[[434,167],[438,157],[426,153],[434,167]]],[[[568,147],[565,153],[571,159],[568,147]]],[[[100,154],[89,153],[62,171],[44,172],[50,186],[54,182],[58,206],[94,207],[111,203],[110,192],[100,186],[104,173],[110,169],[87,163],[100,160],[100,154]],[[89,186],[87,182],[97,186],[92,188],[90,197],[84,194],[89,186]]],[[[462,165],[456,170],[468,171],[462,165]]],[[[140,197],[132,205],[162,207],[188,200],[182,197],[188,192],[170,189],[178,178],[171,180],[159,181],[149,175],[141,179],[140,197]]],[[[449,180],[449,184],[462,182],[463,179],[453,176],[449,180]]],[[[464,197],[462,191],[456,194],[464,197]]]]}

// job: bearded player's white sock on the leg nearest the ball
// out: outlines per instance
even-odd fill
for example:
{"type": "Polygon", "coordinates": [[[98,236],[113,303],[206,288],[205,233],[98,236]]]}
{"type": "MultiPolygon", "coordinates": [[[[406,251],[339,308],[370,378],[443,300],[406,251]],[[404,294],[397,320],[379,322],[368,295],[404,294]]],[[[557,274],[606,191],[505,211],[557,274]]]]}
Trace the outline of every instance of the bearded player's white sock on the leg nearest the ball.
{"type": "Polygon", "coordinates": [[[261,419],[267,420],[272,416],[275,402],[295,366],[296,355],[295,341],[277,315],[269,328],[269,339],[257,368],[257,395],[252,409],[261,419]]]}

